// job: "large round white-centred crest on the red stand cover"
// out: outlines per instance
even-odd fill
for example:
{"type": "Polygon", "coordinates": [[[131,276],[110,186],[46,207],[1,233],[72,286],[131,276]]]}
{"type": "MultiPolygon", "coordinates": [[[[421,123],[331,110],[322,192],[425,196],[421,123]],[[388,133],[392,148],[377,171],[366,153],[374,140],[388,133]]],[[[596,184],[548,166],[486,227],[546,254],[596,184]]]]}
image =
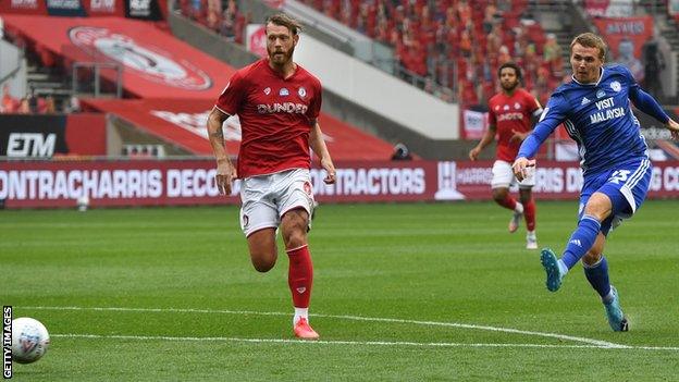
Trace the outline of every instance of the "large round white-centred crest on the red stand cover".
{"type": "Polygon", "coordinates": [[[71,41],[86,50],[99,51],[147,81],[185,90],[205,90],[212,79],[187,60],[151,45],[135,41],[108,28],[77,26],[69,30],[71,41]]]}

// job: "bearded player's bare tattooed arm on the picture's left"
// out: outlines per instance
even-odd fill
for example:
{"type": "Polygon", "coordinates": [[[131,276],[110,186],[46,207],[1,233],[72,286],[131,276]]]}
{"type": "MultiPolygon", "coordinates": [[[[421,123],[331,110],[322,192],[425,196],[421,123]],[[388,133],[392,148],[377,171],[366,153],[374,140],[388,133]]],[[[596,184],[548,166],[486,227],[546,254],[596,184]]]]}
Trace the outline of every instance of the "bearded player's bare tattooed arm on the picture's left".
{"type": "Polygon", "coordinates": [[[217,188],[222,195],[231,195],[231,184],[237,176],[236,169],[233,163],[231,163],[231,159],[224,147],[222,124],[227,118],[229,114],[222,112],[218,108],[213,108],[210,115],[208,115],[208,138],[210,139],[212,152],[217,160],[217,175],[214,175],[214,181],[217,182],[217,188]]]}

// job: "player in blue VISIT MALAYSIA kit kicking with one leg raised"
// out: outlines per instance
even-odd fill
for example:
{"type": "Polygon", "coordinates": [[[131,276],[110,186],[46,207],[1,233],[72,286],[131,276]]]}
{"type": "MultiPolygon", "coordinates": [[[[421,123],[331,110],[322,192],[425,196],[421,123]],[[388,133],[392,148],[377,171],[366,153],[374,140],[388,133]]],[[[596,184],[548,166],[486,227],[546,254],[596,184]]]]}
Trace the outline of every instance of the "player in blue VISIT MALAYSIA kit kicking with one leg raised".
{"type": "Polygon", "coordinates": [[[608,323],[618,332],[628,330],[628,321],[618,292],[608,280],[604,245],[608,232],[641,207],[653,170],[630,101],[664,123],[674,139],[679,139],[679,124],[639,87],[627,67],[604,66],[605,57],[606,44],[601,37],[585,33],[572,40],[572,81],[552,94],[540,122],[523,140],[513,169],[517,178],[523,178],[534,163],[528,158],[564,123],[578,144],[584,183],[578,227],[561,257],[557,258],[548,248],[541,252],[547,289],[556,292],[568,271],[582,260],[588,281],[602,298],[608,323]]]}

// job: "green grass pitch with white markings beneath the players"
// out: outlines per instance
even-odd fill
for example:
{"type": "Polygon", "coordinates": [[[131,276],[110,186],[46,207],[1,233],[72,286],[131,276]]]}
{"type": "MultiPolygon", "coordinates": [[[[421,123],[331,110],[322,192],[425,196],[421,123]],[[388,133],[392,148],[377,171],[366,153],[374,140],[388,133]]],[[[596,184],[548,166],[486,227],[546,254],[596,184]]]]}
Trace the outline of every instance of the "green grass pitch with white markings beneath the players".
{"type": "MultiPolygon", "coordinates": [[[[323,205],[317,343],[292,335],[285,254],[250,266],[237,207],[1,211],[0,303],[52,335],[14,380],[676,381],[678,204],[647,201],[609,236],[628,333],[581,266],[547,292],[491,202],[323,205]]],[[[541,247],[561,251],[576,210],[538,204],[541,247]]]]}

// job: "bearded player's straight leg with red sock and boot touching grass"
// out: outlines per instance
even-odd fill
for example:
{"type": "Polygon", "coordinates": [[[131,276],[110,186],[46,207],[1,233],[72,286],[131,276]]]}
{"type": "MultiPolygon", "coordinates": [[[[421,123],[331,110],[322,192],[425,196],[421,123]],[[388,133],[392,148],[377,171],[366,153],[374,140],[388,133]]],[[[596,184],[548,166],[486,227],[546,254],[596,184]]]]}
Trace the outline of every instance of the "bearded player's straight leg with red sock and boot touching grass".
{"type": "Polygon", "coordinates": [[[317,340],[319,335],[309,324],[313,264],[307,243],[308,224],[309,213],[303,208],[295,208],[285,212],[281,227],[289,258],[287,282],[295,306],[293,331],[299,338],[317,340]]]}

